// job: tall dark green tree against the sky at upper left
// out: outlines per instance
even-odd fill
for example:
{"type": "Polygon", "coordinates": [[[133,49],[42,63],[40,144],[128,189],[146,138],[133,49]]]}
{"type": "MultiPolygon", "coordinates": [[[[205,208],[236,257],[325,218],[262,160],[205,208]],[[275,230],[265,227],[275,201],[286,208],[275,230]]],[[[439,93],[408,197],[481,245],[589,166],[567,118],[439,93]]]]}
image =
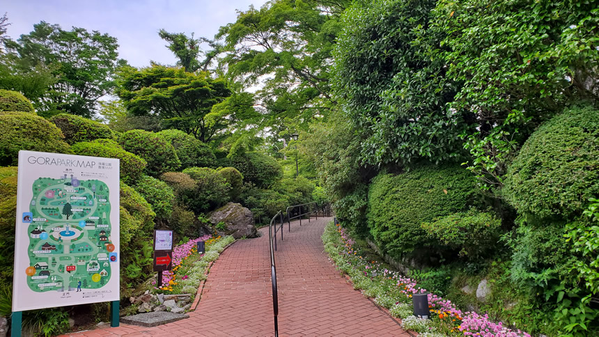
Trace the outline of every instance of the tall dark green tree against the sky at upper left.
{"type": "Polygon", "coordinates": [[[42,116],[61,112],[93,116],[98,99],[114,88],[116,68],[125,63],[118,59],[116,38],[77,27],[65,31],[43,21],[33,25],[31,33],[5,45],[20,58],[22,66],[56,67],[53,73],[58,80],[37,102],[42,116]]]}

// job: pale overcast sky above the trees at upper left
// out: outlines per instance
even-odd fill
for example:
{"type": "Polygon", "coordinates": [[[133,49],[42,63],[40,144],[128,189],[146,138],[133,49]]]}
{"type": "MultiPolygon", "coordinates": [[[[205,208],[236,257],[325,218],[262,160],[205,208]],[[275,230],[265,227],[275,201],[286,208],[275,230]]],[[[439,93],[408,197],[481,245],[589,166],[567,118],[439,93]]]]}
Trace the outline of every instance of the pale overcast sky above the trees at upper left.
{"type": "Polygon", "coordinates": [[[118,39],[118,54],[130,65],[150,65],[150,60],[174,64],[176,58],[158,36],[192,32],[213,38],[220,26],[234,22],[235,10],[260,8],[266,0],[2,0],[0,15],[8,12],[8,36],[13,39],[33,30],[40,21],[108,33],[118,39]]]}

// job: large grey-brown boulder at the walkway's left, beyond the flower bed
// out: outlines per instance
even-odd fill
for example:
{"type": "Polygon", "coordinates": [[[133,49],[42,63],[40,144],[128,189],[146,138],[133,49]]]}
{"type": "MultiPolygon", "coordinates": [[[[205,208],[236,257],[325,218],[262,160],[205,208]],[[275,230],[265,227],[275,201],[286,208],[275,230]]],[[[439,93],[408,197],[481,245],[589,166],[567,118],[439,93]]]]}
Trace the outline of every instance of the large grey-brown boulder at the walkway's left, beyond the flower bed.
{"type": "Polygon", "coordinates": [[[226,233],[233,235],[235,239],[258,236],[258,230],[256,230],[254,224],[254,214],[251,214],[251,210],[238,203],[227,203],[208,214],[208,219],[215,225],[224,222],[226,233]]]}

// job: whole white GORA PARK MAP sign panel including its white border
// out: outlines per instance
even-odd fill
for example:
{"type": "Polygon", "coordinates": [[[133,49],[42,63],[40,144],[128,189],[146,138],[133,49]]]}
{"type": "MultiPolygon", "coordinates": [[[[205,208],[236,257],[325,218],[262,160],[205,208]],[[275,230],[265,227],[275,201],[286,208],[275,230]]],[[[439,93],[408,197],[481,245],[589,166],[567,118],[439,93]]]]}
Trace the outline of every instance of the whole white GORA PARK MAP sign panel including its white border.
{"type": "Polygon", "coordinates": [[[20,151],[13,311],[119,299],[119,160],[20,151]]]}

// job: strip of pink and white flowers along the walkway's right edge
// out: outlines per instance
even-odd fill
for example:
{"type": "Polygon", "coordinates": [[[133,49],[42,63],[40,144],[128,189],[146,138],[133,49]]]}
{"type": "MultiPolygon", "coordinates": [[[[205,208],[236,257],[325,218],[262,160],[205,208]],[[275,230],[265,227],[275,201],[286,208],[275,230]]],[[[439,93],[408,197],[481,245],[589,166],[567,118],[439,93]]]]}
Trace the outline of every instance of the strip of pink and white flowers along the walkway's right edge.
{"type": "Polygon", "coordinates": [[[391,271],[376,260],[364,258],[361,250],[341,225],[330,223],[322,234],[325,251],[336,266],[348,274],[355,289],[389,309],[389,313],[402,320],[402,327],[416,331],[421,336],[485,336],[530,337],[518,329],[505,327],[502,322],[490,321],[488,315],[463,312],[451,301],[428,294],[430,320],[413,315],[412,295],[427,292],[416,281],[391,271]]]}

